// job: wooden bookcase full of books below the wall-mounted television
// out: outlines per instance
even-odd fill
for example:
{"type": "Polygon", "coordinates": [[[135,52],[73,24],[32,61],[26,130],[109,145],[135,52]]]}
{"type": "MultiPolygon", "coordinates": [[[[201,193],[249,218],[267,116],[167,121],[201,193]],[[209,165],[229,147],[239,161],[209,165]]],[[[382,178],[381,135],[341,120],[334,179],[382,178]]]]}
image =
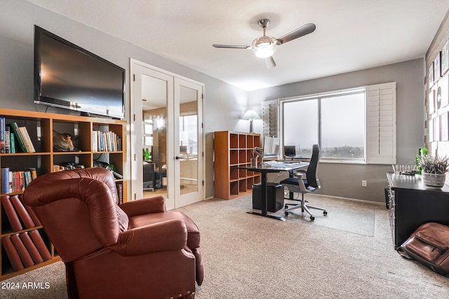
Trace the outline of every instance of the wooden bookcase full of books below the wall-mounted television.
{"type": "MultiPolygon", "coordinates": [[[[20,111],[13,109],[0,109],[0,117],[5,118],[5,124],[17,123],[18,126],[27,127],[30,139],[36,153],[22,153],[20,146],[16,146],[16,153],[0,153],[0,167],[8,167],[10,171],[21,172],[35,168],[37,175],[55,172],[59,165],[83,165],[94,167],[101,161],[101,165],[114,165],[115,172],[123,176],[126,160],[126,120],[109,118],[93,118],[86,116],[72,116],[58,113],[45,113],[35,111],[20,111]],[[120,139],[120,148],[116,151],[93,151],[93,132],[114,132],[120,139]],[[58,151],[53,147],[53,135],[67,133],[72,135],[74,151],[58,151]]],[[[116,179],[119,200],[127,202],[127,179],[116,179]]],[[[0,193],[0,197],[22,195],[23,190],[12,193],[0,193]]],[[[0,239],[37,230],[51,253],[51,259],[25,267],[22,270],[13,270],[8,259],[4,245],[0,252],[0,281],[14,277],[18,274],[34,270],[60,260],[53,244],[46,236],[41,225],[15,231],[8,222],[6,211],[0,202],[0,239]]]]}

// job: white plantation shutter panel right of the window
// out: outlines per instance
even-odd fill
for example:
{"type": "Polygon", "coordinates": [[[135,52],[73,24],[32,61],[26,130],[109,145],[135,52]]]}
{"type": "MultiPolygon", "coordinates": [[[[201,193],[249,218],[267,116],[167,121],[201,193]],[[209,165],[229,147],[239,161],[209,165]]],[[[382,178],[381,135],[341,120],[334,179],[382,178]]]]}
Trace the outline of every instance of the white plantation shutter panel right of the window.
{"type": "Polygon", "coordinates": [[[396,82],[366,88],[366,162],[396,164],[396,82]]]}

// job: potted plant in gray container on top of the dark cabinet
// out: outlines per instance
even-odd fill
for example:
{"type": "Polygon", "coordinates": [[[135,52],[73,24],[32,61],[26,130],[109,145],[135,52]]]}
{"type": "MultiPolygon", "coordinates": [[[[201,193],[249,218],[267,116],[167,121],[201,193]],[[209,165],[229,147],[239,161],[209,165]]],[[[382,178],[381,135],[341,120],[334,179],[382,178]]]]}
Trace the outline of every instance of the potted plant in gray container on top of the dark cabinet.
{"type": "Polygon", "coordinates": [[[449,168],[449,158],[421,155],[417,158],[417,166],[421,167],[422,180],[426,186],[441,188],[446,180],[449,168]]]}

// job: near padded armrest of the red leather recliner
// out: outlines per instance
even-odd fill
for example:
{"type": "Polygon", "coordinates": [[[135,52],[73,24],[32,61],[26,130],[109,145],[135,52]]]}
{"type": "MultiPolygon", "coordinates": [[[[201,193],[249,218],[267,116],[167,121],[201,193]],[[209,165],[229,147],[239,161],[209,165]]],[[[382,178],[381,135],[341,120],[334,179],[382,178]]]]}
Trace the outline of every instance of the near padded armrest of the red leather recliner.
{"type": "Polygon", "coordinates": [[[177,251],[187,244],[187,227],[181,219],[159,223],[121,232],[111,249],[121,256],[140,256],[161,251],[177,251]]]}

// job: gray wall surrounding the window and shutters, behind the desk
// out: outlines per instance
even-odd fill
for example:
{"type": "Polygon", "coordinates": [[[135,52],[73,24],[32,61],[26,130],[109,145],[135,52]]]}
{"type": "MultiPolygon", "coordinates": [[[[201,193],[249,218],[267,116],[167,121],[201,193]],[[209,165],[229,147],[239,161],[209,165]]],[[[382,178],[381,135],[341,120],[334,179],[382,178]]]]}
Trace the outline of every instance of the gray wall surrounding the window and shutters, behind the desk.
{"type": "MultiPolygon", "coordinates": [[[[260,113],[260,103],[270,99],[310,95],[395,81],[397,164],[415,160],[417,148],[424,146],[424,60],[410,60],[384,67],[319,78],[311,81],[255,90],[248,94],[248,106],[260,113]]],[[[299,116],[300,117],[300,116],[299,116]]],[[[260,126],[256,128],[262,132],[260,126]]],[[[300,133],[299,133],[300,134],[300,133]]],[[[384,201],[385,172],[391,165],[351,165],[320,163],[321,194],[384,201]],[[367,187],[361,180],[368,181],[367,187]]]]}

